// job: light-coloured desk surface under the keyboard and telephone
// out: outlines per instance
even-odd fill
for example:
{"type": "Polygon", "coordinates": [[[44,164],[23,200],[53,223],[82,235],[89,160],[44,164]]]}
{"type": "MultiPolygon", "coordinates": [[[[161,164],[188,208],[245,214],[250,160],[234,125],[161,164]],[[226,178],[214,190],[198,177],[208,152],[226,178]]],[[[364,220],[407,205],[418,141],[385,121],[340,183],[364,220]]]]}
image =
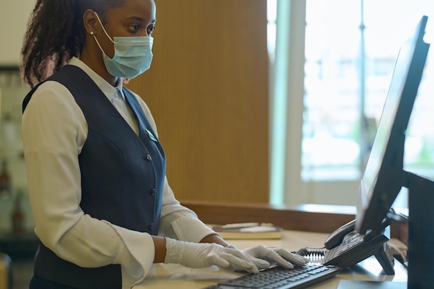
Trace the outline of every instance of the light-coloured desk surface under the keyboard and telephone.
{"type": "MultiPolygon", "coordinates": [[[[284,231],[280,240],[231,240],[230,243],[238,248],[251,247],[254,245],[268,245],[272,247],[285,247],[290,250],[297,250],[301,247],[322,247],[322,243],[328,234],[313,233],[306,231],[284,231]]],[[[367,281],[390,281],[406,282],[407,272],[401,263],[395,261],[395,274],[384,274],[381,265],[374,257],[343,270],[329,280],[318,283],[309,288],[335,289],[338,288],[342,279],[367,280],[367,281]]],[[[243,273],[227,272],[218,268],[191,269],[175,264],[156,264],[153,266],[148,277],[134,289],[200,289],[213,285],[226,279],[236,278],[243,273]]]]}

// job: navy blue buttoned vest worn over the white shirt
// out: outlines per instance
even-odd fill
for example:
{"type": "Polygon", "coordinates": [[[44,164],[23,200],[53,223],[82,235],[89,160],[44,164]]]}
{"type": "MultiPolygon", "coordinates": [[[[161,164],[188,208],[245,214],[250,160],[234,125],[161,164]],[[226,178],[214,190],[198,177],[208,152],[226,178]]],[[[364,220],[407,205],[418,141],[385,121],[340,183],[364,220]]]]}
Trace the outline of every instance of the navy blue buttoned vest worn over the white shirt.
{"type": "MultiPolygon", "coordinates": [[[[48,80],[60,82],[71,91],[87,121],[87,139],[78,155],[82,179],[80,207],[94,218],[156,235],[166,159],[137,99],[123,88],[125,99],[139,121],[139,136],[82,69],[67,65],[48,80]]],[[[37,87],[24,98],[23,112],[37,87]]],[[[73,288],[122,286],[120,265],[82,268],[60,259],[42,244],[35,256],[34,272],[73,288]]]]}

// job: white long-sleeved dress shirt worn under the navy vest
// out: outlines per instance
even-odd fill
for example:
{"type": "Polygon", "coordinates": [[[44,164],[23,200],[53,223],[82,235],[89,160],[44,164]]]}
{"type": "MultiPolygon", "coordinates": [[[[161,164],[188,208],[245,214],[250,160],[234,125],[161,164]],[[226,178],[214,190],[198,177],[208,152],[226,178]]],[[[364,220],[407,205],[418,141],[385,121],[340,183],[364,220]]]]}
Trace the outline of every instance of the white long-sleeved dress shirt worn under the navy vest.
{"type": "MultiPolygon", "coordinates": [[[[69,64],[80,67],[94,80],[138,134],[137,119],[116,90],[122,91],[120,79],[112,87],[78,58],[69,64]]],[[[157,134],[148,106],[134,96],[157,134]]],[[[78,155],[87,139],[87,122],[71,92],[55,81],[40,85],[23,114],[22,134],[37,237],[60,258],[82,267],[121,264],[123,289],[143,280],[155,256],[150,234],[92,218],[80,208],[78,155]]],[[[196,213],[180,205],[165,177],[159,235],[199,242],[209,234],[215,233],[196,213]]]]}

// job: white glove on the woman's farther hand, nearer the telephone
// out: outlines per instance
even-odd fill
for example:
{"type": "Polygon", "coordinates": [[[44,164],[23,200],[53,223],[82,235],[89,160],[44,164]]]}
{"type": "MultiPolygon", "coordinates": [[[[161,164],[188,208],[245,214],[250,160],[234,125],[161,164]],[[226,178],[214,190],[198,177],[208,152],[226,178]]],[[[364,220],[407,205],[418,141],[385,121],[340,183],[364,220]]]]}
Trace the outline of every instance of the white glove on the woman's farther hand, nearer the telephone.
{"type": "Polygon", "coordinates": [[[241,252],[248,256],[259,270],[269,268],[272,263],[293,269],[294,264],[302,266],[309,262],[306,257],[293,254],[283,248],[256,246],[242,249],[241,252]]]}

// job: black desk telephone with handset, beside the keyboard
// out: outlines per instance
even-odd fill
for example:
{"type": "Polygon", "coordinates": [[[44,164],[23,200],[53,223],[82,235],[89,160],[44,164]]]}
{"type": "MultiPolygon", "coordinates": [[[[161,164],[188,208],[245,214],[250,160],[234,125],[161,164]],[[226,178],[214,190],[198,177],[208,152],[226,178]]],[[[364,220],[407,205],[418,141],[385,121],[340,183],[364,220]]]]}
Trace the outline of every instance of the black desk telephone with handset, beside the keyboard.
{"type": "MultiPolygon", "coordinates": [[[[330,234],[324,242],[326,252],[322,264],[336,265],[342,269],[356,265],[357,263],[374,255],[383,270],[388,275],[394,274],[393,255],[388,247],[389,240],[383,234],[358,234],[354,231],[356,220],[342,225],[330,234]],[[346,238],[347,237],[347,238],[346,238]]],[[[383,227],[390,225],[389,220],[383,221],[383,227]]]]}

